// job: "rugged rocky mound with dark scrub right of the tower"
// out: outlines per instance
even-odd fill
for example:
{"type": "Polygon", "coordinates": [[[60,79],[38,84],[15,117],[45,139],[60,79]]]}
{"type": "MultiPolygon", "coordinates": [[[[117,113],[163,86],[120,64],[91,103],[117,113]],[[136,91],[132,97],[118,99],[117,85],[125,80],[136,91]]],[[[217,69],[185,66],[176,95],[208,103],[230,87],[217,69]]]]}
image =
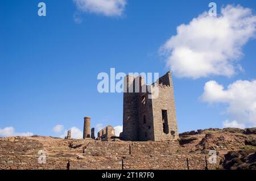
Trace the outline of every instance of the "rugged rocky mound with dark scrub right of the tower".
{"type": "Polygon", "coordinates": [[[216,150],[218,169],[256,170],[256,128],[205,129],[180,134],[183,149],[196,153],[216,150]]]}

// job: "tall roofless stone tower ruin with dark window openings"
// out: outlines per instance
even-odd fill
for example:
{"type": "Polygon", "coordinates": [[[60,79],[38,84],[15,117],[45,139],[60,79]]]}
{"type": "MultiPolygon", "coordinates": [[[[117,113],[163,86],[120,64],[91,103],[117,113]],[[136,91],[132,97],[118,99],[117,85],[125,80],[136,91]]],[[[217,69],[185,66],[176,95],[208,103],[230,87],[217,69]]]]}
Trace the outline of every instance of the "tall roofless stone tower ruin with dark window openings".
{"type": "Polygon", "coordinates": [[[150,86],[144,83],[141,76],[127,75],[124,85],[123,140],[176,140],[178,132],[171,72],[150,86]],[[135,86],[138,84],[139,86],[135,86]],[[148,91],[149,87],[158,88],[157,98],[150,99],[152,94],[148,91]],[[138,89],[139,91],[135,91],[138,89]]]}

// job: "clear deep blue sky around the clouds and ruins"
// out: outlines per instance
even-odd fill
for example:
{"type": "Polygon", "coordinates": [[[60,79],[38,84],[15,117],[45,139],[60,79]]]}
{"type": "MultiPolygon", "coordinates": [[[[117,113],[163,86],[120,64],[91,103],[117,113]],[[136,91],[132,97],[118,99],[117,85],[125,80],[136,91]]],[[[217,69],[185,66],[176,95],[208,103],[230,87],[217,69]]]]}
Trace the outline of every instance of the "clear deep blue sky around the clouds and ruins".
{"type": "MultiPolygon", "coordinates": [[[[115,68],[165,74],[170,67],[160,47],[180,24],[208,11],[211,1],[126,2],[121,15],[108,16],[81,11],[72,0],[0,1],[0,129],[58,136],[55,125],[82,130],[84,116],[92,117],[91,127],[122,125],[122,94],[98,93],[98,73],[115,68]],[[39,2],[46,3],[46,17],[38,16],[39,2]]],[[[255,15],[255,1],[214,2],[218,14],[222,6],[240,4],[255,15]]],[[[230,102],[209,104],[199,97],[211,80],[226,89],[237,80],[255,79],[255,47],[255,39],[241,46],[243,71],[230,77],[173,75],[179,132],[223,127],[230,102]]]]}

